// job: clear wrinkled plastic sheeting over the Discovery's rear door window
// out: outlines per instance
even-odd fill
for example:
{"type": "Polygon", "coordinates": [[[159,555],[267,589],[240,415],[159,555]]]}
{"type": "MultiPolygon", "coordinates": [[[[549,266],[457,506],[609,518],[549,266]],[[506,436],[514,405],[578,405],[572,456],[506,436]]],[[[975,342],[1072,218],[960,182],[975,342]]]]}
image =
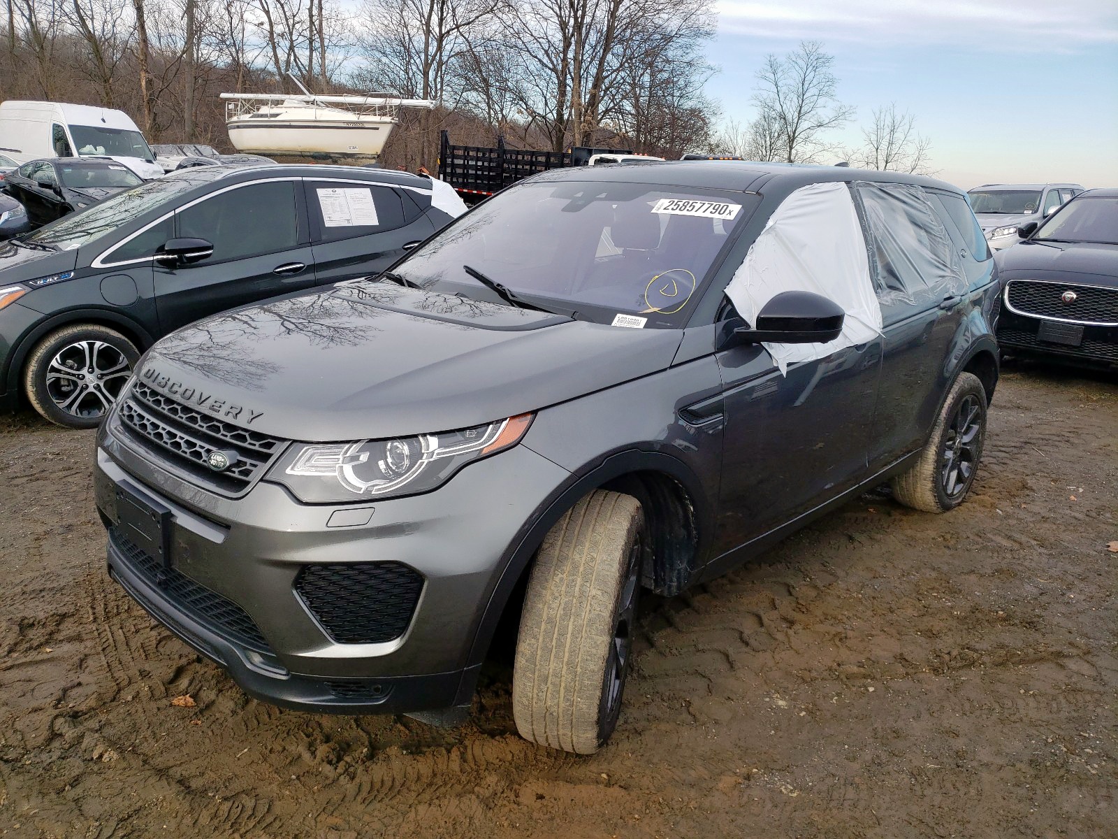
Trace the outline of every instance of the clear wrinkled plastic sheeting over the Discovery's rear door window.
{"type": "Polygon", "coordinates": [[[967,291],[950,234],[927,194],[906,183],[854,183],[882,305],[919,309],[967,291]]]}

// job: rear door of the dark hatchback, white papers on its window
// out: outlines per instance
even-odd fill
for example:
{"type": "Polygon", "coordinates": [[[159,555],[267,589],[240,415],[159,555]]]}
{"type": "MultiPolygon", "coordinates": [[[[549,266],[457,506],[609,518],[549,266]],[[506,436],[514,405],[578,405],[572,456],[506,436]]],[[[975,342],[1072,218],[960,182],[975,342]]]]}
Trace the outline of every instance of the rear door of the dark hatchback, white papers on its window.
{"type": "Polygon", "coordinates": [[[435,232],[407,189],[357,178],[307,178],[319,284],[377,274],[435,232]]]}

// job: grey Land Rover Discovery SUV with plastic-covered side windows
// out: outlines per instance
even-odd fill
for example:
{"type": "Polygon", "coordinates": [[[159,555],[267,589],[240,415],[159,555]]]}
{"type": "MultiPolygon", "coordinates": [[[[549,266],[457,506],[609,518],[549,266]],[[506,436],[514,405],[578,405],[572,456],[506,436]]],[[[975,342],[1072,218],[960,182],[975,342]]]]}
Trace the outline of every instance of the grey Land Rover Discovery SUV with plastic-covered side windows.
{"type": "Polygon", "coordinates": [[[306,710],[452,720],[519,620],[519,730],[593,752],[642,588],[882,482],[921,510],[966,498],[997,301],[966,197],[928,178],[540,175],[380,277],[152,347],[97,440],[108,569],[306,710]]]}

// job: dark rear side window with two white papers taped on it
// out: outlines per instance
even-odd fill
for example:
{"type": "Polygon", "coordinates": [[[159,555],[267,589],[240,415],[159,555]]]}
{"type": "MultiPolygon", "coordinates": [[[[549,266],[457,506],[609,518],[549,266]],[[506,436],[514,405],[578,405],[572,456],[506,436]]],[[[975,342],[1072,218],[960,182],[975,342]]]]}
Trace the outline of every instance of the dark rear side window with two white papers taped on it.
{"type": "Polygon", "coordinates": [[[307,181],[316,242],[340,242],[405,225],[404,202],[391,187],[307,181]]]}

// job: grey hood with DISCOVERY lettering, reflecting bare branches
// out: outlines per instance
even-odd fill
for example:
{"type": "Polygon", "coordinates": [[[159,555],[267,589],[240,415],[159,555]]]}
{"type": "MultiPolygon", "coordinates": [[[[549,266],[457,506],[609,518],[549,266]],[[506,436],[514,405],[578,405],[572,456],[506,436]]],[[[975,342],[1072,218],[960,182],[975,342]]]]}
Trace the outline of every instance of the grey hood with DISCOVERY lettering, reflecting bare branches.
{"type": "Polygon", "coordinates": [[[681,337],[356,281],[199,321],[136,375],[254,431],[361,440],[481,425],[646,376],[681,337]]]}

